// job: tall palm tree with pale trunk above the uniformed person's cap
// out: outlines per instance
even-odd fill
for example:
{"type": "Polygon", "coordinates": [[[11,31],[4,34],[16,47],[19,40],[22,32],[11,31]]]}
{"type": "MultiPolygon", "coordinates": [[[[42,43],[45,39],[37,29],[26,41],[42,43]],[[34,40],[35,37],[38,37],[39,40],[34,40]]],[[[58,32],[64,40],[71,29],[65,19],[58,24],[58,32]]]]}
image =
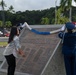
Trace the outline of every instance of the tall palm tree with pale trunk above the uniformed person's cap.
{"type": "MultiPolygon", "coordinates": [[[[76,0],[74,0],[74,1],[76,2],[76,0]]],[[[69,10],[69,21],[71,22],[72,0],[61,0],[60,6],[63,11],[65,8],[69,10]]]]}

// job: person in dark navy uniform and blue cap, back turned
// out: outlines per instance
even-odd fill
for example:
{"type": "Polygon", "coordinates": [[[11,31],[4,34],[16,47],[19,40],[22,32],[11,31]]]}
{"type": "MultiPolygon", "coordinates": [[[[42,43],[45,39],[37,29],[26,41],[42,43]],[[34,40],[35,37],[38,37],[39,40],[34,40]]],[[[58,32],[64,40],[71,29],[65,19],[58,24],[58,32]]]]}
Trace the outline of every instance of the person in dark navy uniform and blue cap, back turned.
{"type": "Polygon", "coordinates": [[[75,25],[71,22],[65,24],[66,32],[59,32],[58,36],[63,40],[62,53],[66,75],[76,75],[76,32],[73,32],[75,25]]]}

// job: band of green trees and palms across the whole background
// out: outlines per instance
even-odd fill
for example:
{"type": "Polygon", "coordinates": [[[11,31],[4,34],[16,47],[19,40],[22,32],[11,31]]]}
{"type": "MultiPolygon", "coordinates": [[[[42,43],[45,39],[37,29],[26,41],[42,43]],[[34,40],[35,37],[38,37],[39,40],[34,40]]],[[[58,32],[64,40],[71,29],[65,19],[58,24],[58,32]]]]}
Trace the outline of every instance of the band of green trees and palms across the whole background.
{"type": "MultiPolygon", "coordinates": [[[[74,0],[76,1],[76,0],[74,0]]],[[[76,7],[72,6],[72,0],[60,0],[60,6],[57,6],[56,18],[57,24],[64,24],[68,21],[76,21],[76,7]],[[69,11],[72,8],[72,19],[69,19],[69,11]]],[[[11,5],[7,10],[5,2],[0,2],[2,10],[0,10],[0,27],[10,27],[25,21],[30,25],[48,25],[55,24],[55,7],[44,10],[26,10],[26,11],[14,11],[11,5]]]]}

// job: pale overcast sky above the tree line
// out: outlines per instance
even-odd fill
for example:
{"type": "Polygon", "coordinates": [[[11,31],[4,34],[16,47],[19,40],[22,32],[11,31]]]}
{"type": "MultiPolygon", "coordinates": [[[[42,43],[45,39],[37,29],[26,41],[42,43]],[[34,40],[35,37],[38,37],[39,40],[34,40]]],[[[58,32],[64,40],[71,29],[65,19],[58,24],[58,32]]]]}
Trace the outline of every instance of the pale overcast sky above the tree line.
{"type": "MultiPolygon", "coordinates": [[[[1,0],[0,0],[1,1],[1,0]]],[[[9,7],[12,5],[15,11],[25,10],[43,10],[59,5],[60,0],[4,0],[6,5],[9,7]]],[[[73,2],[74,5],[76,5],[73,2]]]]}

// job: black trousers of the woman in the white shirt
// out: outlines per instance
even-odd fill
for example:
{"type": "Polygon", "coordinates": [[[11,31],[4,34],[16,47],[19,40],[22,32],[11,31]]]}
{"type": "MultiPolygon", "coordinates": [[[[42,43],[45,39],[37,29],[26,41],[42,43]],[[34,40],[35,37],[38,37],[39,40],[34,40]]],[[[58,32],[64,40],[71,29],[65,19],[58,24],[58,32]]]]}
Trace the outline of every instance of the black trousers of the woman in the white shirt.
{"type": "Polygon", "coordinates": [[[14,75],[15,67],[16,67],[16,58],[13,54],[5,56],[7,64],[8,64],[8,72],[7,75],[14,75]]]}

